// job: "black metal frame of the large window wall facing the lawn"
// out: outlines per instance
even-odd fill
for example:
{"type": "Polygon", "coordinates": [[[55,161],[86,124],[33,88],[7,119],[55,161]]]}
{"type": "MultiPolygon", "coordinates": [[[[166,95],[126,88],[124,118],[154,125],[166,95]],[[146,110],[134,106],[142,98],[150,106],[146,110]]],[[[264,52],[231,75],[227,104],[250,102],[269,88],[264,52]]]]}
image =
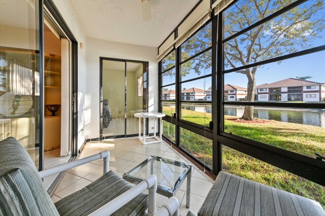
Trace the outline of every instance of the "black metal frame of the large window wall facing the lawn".
{"type": "MultiPolygon", "coordinates": [[[[273,166],[277,166],[281,169],[284,169],[286,171],[289,171],[291,173],[294,173],[296,175],[302,176],[306,179],[309,179],[310,181],[313,181],[320,185],[325,185],[323,182],[323,178],[325,176],[325,162],[316,160],[314,158],[300,155],[294,152],[286,151],[284,149],[276,148],[274,146],[268,145],[266,143],[257,142],[251,139],[247,139],[244,137],[236,136],[234,134],[225,133],[223,130],[223,107],[224,105],[254,105],[259,106],[261,105],[261,102],[254,101],[254,102],[248,102],[248,101],[224,101],[224,94],[223,94],[223,73],[231,73],[238,69],[245,69],[253,66],[258,66],[262,64],[272,63],[276,61],[281,61],[287,58],[293,58],[298,57],[306,54],[310,54],[313,52],[323,51],[325,50],[325,45],[311,48],[304,51],[299,51],[296,53],[288,54],[285,56],[277,56],[268,60],[264,60],[261,62],[248,64],[245,66],[241,66],[240,68],[235,69],[229,69],[224,70],[223,67],[223,43],[227,40],[231,40],[232,38],[237,37],[238,35],[242,34],[243,32],[246,32],[259,24],[265,23],[268,20],[271,20],[272,18],[290,10],[298,5],[304,3],[303,0],[298,0],[294,3],[291,3],[290,5],[280,9],[279,11],[267,16],[266,18],[259,20],[258,22],[252,24],[251,26],[248,26],[247,28],[244,28],[231,37],[228,37],[226,39],[223,39],[223,13],[228,8],[232,7],[234,4],[236,4],[238,0],[232,2],[229,6],[227,6],[225,9],[223,9],[219,14],[214,15],[212,13],[212,18],[207,22],[209,23],[212,21],[212,47],[209,48],[212,50],[212,83],[215,83],[216,85],[212,85],[212,95],[211,95],[211,105],[212,105],[212,122],[214,123],[214,127],[212,130],[210,129],[202,129],[201,125],[196,125],[191,122],[186,122],[184,120],[181,120],[179,118],[180,109],[181,109],[181,102],[189,102],[186,100],[182,100],[182,97],[186,97],[186,95],[181,93],[180,85],[176,85],[176,115],[174,118],[164,118],[165,121],[168,121],[170,123],[173,123],[176,125],[176,142],[173,143],[177,148],[182,148],[179,146],[179,128],[182,127],[186,130],[189,130],[191,132],[197,133],[199,135],[206,136],[213,140],[213,173],[214,175],[217,175],[219,171],[222,170],[222,153],[221,153],[221,145],[230,147],[236,151],[240,151],[248,156],[254,157],[258,160],[262,160],[266,163],[269,163],[273,166]],[[218,37],[220,35],[220,37],[218,37]],[[221,56],[221,57],[220,57],[221,56]]],[[[202,28],[202,27],[201,27],[202,28]]],[[[200,29],[201,29],[200,28],[200,29]]],[[[199,29],[199,30],[200,30],[199,29]]],[[[176,29],[177,30],[177,29],[176,29]]],[[[175,33],[175,39],[177,38],[177,31],[175,33]]],[[[194,34],[197,33],[194,32],[194,34]]],[[[181,83],[179,73],[180,73],[180,47],[176,48],[176,83],[181,83]]],[[[207,49],[208,50],[208,49],[207,49]]],[[[200,55],[202,53],[199,53],[197,55],[200,55]]],[[[193,57],[193,56],[192,56],[193,57]]],[[[160,70],[161,71],[161,70],[160,70]]],[[[270,92],[268,91],[268,88],[266,91],[261,92],[270,92]]],[[[258,93],[259,91],[257,91],[258,93]]],[[[281,93],[280,93],[281,94],[281,93]]],[[[303,95],[303,92],[301,92],[303,95]]],[[[269,94],[268,94],[269,95],[269,94]]],[[[190,102],[200,102],[200,101],[190,101],[190,102]]],[[[205,101],[207,102],[207,101],[205,101]]],[[[320,103],[294,103],[294,102],[285,102],[285,101],[278,101],[278,102],[270,102],[265,101],[263,102],[264,106],[273,106],[273,107],[288,107],[288,108],[307,108],[307,109],[325,109],[324,104],[320,103]]],[[[165,137],[166,138],[166,137],[165,137]]],[[[168,140],[168,139],[166,139],[168,140]]],[[[183,151],[186,154],[186,151],[183,151]]],[[[189,158],[195,160],[199,163],[202,167],[204,166],[203,163],[200,163],[200,161],[196,160],[191,154],[186,154],[189,158]]],[[[209,170],[209,169],[208,169],[209,170]]]]}

